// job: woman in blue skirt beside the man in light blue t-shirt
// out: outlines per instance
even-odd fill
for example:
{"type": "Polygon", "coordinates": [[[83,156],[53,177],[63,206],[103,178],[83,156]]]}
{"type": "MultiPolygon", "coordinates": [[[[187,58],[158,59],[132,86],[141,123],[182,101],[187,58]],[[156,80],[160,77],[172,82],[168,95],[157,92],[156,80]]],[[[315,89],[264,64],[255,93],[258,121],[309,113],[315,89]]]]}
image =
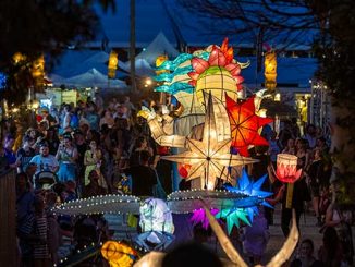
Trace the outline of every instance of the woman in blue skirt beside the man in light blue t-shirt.
{"type": "Polygon", "coordinates": [[[70,134],[63,136],[63,143],[59,145],[56,158],[60,162],[58,179],[65,182],[76,179],[76,159],[77,150],[72,143],[73,138],[70,134]]]}

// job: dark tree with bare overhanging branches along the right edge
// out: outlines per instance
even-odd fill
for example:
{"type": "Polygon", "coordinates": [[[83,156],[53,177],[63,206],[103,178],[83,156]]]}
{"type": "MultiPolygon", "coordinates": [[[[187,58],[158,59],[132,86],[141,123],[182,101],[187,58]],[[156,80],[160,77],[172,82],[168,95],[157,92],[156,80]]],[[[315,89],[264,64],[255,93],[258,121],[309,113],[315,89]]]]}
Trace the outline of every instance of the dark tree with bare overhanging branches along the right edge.
{"type": "Polygon", "coordinates": [[[179,2],[196,15],[212,17],[208,25],[219,35],[264,28],[264,39],[280,48],[313,46],[319,60],[317,77],[327,85],[332,105],[331,182],[338,202],[355,204],[355,1],[353,0],[199,0],[179,2]],[[218,22],[221,22],[220,24],[218,22]],[[224,26],[221,27],[221,24],[224,26]],[[213,27],[215,26],[215,27],[213,27]],[[216,31],[216,26],[218,27],[216,31]],[[309,37],[310,36],[310,37],[309,37]]]}

